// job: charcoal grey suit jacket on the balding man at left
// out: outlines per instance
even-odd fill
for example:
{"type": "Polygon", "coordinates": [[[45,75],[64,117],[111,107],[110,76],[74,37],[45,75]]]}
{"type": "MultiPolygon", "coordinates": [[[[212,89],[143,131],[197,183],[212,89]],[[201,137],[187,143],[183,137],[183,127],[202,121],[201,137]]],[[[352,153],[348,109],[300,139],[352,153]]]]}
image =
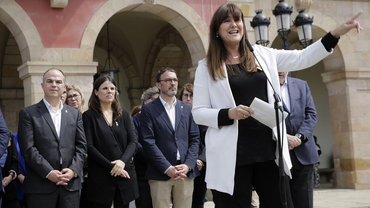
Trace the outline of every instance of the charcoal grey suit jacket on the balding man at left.
{"type": "Polygon", "coordinates": [[[46,175],[52,170],[70,168],[79,174],[64,186],[68,191],[82,188],[80,175],[86,155],[86,138],[80,111],[63,104],[61,111],[60,138],[50,113],[41,100],[19,112],[18,142],[21,155],[26,161],[27,177],[23,191],[30,194],[53,192],[57,185],[46,175]],[[63,159],[60,168],[60,157],[63,159]]]}

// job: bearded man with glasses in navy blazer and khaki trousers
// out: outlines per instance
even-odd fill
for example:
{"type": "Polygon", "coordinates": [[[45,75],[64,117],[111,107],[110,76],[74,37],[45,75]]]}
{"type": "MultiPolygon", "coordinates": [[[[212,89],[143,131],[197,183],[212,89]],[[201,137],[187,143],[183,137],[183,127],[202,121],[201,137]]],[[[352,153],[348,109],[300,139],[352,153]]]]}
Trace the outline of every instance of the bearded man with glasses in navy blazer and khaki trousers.
{"type": "Polygon", "coordinates": [[[171,194],[176,208],[191,207],[199,129],[191,106],[176,100],[178,78],[172,68],[156,75],[160,95],[141,108],[142,147],[149,158],[145,177],[149,180],[154,208],[168,208],[171,194]]]}

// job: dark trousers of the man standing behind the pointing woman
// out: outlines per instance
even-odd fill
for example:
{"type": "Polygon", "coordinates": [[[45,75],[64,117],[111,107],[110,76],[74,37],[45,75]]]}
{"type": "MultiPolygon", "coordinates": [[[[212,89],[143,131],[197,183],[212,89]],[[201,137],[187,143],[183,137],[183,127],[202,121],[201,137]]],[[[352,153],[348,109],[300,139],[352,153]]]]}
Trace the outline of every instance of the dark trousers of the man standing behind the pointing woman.
{"type": "Polygon", "coordinates": [[[292,180],[289,181],[294,207],[313,208],[313,164],[302,165],[295,152],[289,151],[292,161],[292,180]]]}

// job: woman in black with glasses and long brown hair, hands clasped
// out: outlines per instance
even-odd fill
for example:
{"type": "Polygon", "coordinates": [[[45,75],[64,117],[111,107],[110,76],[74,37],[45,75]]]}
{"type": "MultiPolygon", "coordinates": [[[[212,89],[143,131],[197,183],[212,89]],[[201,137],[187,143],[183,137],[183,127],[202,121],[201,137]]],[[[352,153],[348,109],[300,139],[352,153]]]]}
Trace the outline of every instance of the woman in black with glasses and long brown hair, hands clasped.
{"type": "Polygon", "coordinates": [[[128,208],[139,195],[132,162],[137,141],[111,77],[95,81],[83,123],[89,155],[87,199],[94,208],[110,208],[112,202],[114,208],[128,208]]]}

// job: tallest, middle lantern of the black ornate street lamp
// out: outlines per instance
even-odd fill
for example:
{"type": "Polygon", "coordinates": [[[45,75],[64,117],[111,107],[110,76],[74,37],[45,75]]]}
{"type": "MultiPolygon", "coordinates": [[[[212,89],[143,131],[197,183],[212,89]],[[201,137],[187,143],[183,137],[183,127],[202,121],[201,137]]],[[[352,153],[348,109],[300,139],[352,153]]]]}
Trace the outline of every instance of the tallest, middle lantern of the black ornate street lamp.
{"type": "Polygon", "coordinates": [[[283,39],[283,49],[289,50],[290,43],[287,42],[290,33],[290,14],[293,12],[293,6],[289,7],[284,0],[279,0],[279,4],[272,10],[276,17],[277,33],[283,39]]]}

